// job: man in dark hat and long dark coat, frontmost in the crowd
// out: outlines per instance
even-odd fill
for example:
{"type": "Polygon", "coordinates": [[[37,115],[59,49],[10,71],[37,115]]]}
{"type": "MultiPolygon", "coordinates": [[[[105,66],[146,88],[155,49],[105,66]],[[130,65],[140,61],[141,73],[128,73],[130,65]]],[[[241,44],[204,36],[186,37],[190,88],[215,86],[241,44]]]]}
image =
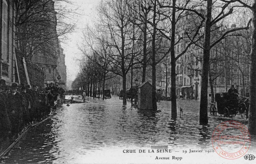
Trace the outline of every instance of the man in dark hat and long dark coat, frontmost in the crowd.
{"type": "Polygon", "coordinates": [[[22,122],[23,97],[17,92],[18,85],[12,83],[11,93],[7,96],[7,112],[12,124],[12,134],[18,134],[22,122]]]}

